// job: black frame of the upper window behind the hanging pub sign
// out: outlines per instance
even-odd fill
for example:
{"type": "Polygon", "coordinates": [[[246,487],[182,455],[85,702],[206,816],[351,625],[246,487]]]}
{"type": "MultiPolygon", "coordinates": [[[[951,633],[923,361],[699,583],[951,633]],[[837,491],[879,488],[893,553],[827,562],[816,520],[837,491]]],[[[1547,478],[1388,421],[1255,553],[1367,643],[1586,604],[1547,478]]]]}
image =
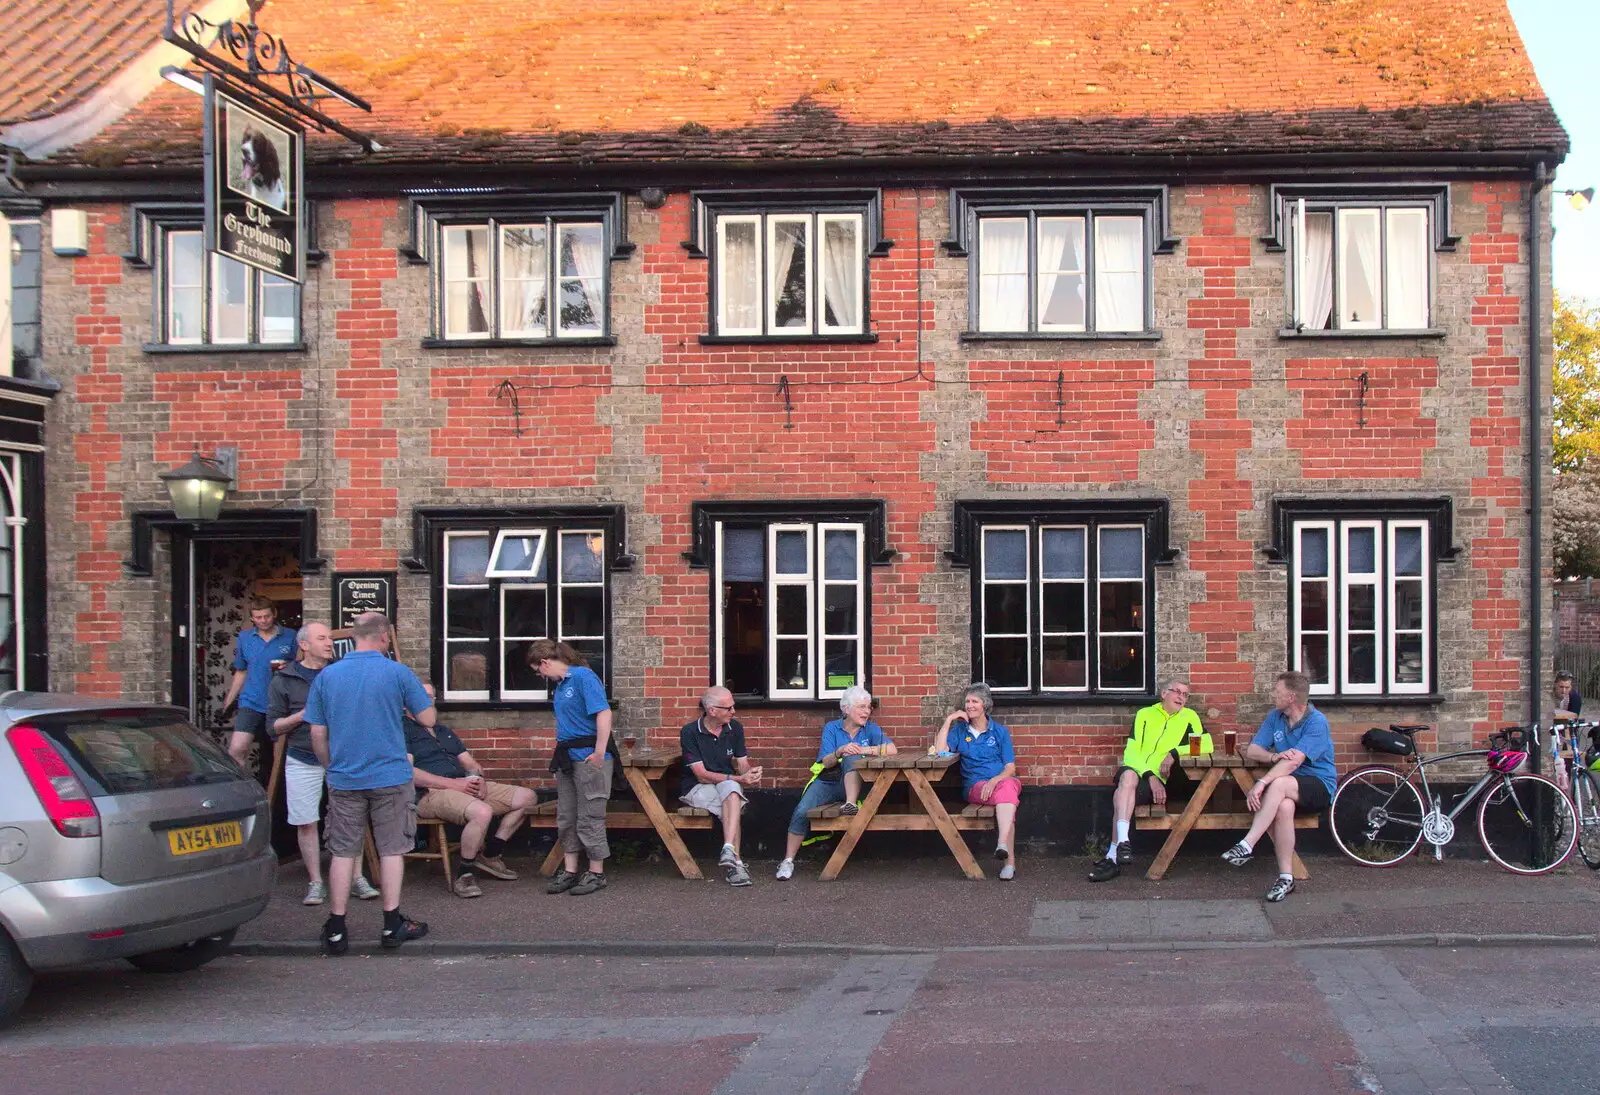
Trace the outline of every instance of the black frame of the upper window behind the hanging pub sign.
{"type": "MultiPolygon", "coordinates": [[[[306,266],[312,267],[325,258],[315,243],[315,207],[306,205],[306,266]]],[[[174,232],[205,232],[205,207],[200,203],[139,203],[130,208],[130,243],[131,248],[123,259],[133,269],[150,271],[150,339],[142,344],[146,354],[291,354],[306,349],[306,287],[290,282],[294,291],[294,338],[280,343],[262,343],[261,336],[261,285],[266,274],[253,266],[245,266],[251,285],[250,333],[243,343],[211,341],[211,290],[216,255],[200,251],[200,299],[202,299],[202,338],[197,343],[173,343],[170,336],[170,317],[166,309],[168,283],[168,239],[174,232]]],[[[226,256],[222,256],[226,258],[226,256]]],[[[235,259],[237,261],[237,259],[235,259]]],[[[285,279],[286,280],[286,279],[285,279]]]]}

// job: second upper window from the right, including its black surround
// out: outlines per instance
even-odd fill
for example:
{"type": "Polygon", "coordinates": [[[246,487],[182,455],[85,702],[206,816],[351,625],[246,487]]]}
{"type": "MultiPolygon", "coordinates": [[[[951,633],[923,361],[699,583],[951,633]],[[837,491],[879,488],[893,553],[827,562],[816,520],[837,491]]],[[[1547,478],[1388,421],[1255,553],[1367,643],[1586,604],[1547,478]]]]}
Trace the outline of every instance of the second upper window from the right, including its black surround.
{"type": "Polygon", "coordinates": [[[950,239],[971,279],[971,336],[1152,336],[1166,189],[954,191],[950,239]]]}

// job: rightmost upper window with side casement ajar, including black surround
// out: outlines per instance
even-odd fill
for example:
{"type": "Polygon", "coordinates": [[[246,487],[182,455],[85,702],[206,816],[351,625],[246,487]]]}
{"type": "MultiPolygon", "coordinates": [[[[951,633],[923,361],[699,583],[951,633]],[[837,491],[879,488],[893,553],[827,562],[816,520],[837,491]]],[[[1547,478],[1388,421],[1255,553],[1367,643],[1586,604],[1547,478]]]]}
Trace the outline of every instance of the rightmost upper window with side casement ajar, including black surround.
{"type": "Polygon", "coordinates": [[[1293,333],[1432,330],[1434,251],[1454,247],[1446,186],[1285,186],[1272,203],[1293,333]]]}

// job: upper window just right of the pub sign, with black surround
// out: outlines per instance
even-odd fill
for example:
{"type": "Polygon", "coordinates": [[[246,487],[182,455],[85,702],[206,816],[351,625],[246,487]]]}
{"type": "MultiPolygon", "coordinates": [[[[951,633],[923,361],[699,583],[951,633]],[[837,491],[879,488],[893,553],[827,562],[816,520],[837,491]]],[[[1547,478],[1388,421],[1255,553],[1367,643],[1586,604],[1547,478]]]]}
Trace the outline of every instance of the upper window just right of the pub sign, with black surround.
{"type": "Polygon", "coordinates": [[[627,258],[621,194],[424,194],[400,253],[432,267],[426,346],[605,343],[611,263],[627,258]]]}

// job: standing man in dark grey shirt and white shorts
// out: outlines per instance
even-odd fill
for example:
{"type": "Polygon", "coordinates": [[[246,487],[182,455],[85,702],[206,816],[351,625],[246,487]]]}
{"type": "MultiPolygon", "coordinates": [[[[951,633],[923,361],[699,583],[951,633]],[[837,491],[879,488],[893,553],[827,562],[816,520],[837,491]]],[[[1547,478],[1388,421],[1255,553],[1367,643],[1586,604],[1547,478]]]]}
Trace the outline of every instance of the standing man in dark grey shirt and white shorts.
{"type": "MultiPolygon", "coordinates": [[[[317,837],[317,820],[322,816],[322,764],[310,748],[310,724],[306,722],[306,696],[323,666],[333,661],[333,632],[328,624],[309,623],[294,636],[299,661],[291,661],[274,674],[267,685],[267,725],[274,738],[290,735],[290,748],[283,757],[283,791],[290,807],[290,824],[301,847],[301,863],[310,885],[301,904],[322,904],[328,900],[328,884],[322,880],[322,840],[317,837]]],[[[378,896],[378,887],[366,880],[360,868],[352,882],[355,896],[370,901],[378,896]]]]}

